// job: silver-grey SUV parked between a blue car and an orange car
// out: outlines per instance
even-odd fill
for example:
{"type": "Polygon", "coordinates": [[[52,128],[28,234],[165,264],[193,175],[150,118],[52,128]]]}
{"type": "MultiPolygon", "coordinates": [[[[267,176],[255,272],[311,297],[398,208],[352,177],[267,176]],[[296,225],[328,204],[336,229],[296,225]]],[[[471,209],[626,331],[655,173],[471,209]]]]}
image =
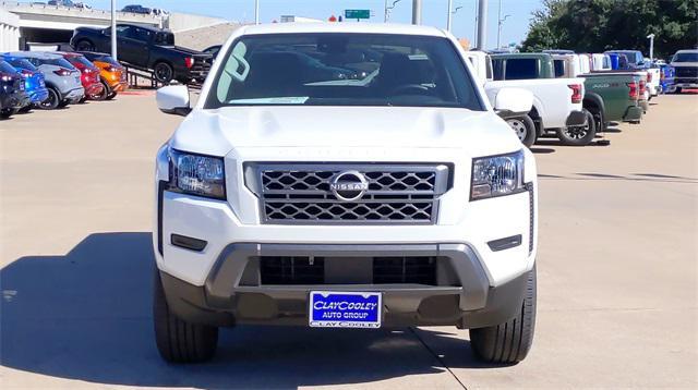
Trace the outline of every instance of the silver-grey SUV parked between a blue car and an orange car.
{"type": "Polygon", "coordinates": [[[40,105],[43,109],[65,107],[85,96],[80,71],[63,57],[41,51],[15,51],[10,54],[25,58],[44,73],[48,99],[40,105]]]}

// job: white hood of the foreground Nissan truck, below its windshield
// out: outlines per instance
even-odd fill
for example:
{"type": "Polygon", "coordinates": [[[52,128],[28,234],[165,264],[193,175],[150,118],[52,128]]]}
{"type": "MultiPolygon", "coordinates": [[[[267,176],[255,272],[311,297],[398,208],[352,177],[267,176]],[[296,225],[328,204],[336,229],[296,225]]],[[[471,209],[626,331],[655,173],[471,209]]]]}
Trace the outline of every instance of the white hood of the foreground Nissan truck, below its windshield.
{"type": "Polygon", "coordinates": [[[480,156],[521,147],[492,111],[412,107],[195,109],[170,145],[214,156],[233,147],[461,148],[480,156]]]}

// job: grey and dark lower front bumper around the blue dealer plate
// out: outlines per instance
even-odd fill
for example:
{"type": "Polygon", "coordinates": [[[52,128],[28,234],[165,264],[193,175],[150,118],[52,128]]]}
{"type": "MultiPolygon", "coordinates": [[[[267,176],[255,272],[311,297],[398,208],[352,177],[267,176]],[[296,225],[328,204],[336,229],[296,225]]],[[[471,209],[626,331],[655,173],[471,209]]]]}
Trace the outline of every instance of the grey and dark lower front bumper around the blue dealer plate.
{"type": "Polygon", "coordinates": [[[497,288],[490,287],[482,264],[466,244],[231,244],[220,254],[203,287],[160,271],[165,295],[174,314],[190,322],[217,326],[308,325],[310,292],[334,290],[381,292],[382,322],[387,327],[480,328],[516,316],[524,300],[526,277],[522,273],[497,288]],[[309,255],[339,256],[339,261],[347,263],[362,256],[433,256],[438,258],[442,279],[448,284],[261,285],[262,256],[309,255]]]}

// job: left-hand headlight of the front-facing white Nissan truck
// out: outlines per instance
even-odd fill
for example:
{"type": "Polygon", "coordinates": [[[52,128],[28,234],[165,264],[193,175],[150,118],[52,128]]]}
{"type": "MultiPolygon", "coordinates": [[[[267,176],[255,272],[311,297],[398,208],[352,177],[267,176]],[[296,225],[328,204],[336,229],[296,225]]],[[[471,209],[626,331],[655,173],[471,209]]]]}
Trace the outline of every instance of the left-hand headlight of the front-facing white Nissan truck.
{"type": "Polygon", "coordinates": [[[222,158],[170,149],[169,160],[170,191],[216,199],[226,198],[222,158]]]}

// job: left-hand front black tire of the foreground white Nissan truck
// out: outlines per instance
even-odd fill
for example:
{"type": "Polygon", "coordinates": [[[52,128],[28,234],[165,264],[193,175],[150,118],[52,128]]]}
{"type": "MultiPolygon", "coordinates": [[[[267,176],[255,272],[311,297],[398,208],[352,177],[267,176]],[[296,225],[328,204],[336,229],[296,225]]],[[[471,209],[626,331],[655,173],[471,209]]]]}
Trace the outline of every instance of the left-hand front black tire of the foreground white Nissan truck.
{"type": "Polygon", "coordinates": [[[216,353],[218,328],[190,324],[174,316],[167,305],[159,271],[153,283],[155,341],[164,359],[171,363],[201,363],[216,353]]]}

